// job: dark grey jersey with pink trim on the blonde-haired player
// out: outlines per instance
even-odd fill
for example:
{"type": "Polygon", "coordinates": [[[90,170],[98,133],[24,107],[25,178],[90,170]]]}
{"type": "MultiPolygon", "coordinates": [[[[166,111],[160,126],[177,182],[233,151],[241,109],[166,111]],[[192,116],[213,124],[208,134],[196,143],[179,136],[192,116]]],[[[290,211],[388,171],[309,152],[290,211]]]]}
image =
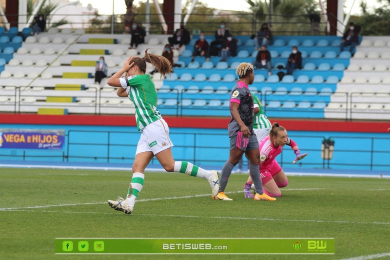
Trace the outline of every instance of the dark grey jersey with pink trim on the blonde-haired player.
{"type": "MultiPolygon", "coordinates": [[[[249,128],[249,131],[254,135],[253,123],[254,123],[254,101],[251,95],[251,92],[248,89],[248,86],[238,81],[235,83],[235,86],[230,93],[230,102],[238,103],[238,114],[240,115],[241,120],[249,128]]],[[[232,137],[237,130],[240,130],[241,127],[232,117],[232,120],[229,122],[228,134],[229,137],[232,137]]]]}

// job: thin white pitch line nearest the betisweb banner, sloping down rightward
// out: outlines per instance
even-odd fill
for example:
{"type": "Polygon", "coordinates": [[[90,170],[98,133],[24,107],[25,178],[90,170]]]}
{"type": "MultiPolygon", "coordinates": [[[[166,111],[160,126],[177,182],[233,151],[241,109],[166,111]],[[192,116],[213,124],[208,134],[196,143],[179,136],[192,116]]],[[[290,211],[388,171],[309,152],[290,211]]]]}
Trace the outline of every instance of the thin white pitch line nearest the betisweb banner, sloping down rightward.
{"type": "MultiPolygon", "coordinates": [[[[13,210],[17,212],[49,212],[49,213],[73,213],[73,214],[118,214],[108,212],[80,212],[80,211],[55,211],[55,210],[13,210]]],[[[173,215],[173,214],[137,214],[137,216],[152,217],[172,217],[172,218],[191,218],[191,219],[217,219],[217,220],[267,220],[267,221],[292,221],[292,222],[315,222],[315,223],[345,223],[345,224],[376,224],[390,225],[390,222],[362,222],[362,221],[341,221],[341,220],[288,220],[288,219],[269,219],[269,218],[243,218],[243,217],[209,217],[209,216],[191,216],[191,215],[173,215]]]]}

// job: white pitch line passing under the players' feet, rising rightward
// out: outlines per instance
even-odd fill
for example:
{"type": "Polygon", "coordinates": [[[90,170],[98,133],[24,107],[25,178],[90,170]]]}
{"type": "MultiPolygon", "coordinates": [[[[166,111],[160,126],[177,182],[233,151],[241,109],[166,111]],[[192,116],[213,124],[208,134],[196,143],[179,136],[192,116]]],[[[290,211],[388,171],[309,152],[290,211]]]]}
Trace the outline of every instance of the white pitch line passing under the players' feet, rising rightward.
{"type": "MultiPolygon", "coordinates": [[[[326,190],[323,188],[303,188],[303,189],[284,189],[283,191],[302,191],[302,190],[326,190]]],[[[243,191],[231,191],[226,192],[230,193],[240,193],[243,191]]],[[[137,200],[137,202],[145,202],[145,201],[155,201],[155,200],[177,200],[177,199],[189,199],[194,197],[207,197],[211,196],[210,194],[200,194],[200,195],[191,195],[191,196],[183,196],[183,197],[170,197],[170,198],[154,198],[154,199],[145,199],[145,200],[137,200]]],[[[66,206],[78,206],[78,205],[95,205],[95,204],[103,204],[106,202],[90,202],[90,203],[71,203],[71,204],[58,204],[58,205],[44,205],[44,206],[31,206],[31,207],[18,207],[18,208],[0,208],[0,211],[6,210],[16,210],[16,209],[35,209],[35,208],[50,208],[50,207],[66,207],[66,206]]]]}

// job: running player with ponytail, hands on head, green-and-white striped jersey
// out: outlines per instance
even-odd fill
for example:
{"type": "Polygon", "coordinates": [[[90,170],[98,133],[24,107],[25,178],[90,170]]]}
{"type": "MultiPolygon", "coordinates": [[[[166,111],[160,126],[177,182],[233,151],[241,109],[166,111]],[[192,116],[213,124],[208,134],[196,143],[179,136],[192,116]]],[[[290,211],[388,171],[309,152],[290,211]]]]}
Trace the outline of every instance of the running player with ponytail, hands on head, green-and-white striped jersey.
{"type": "Polygon", "coordinates": [[[129,185],[126,199],[108,200],[108,204],[125,214],[131,214],[139,192],[144,183],[146,166],[156,156],[168,172],[180,172],[209,181],[212,196],[219,190],[218,172],[206,171],[187,161],[175,161],[172,157],[172,144],[169,127],[156,108],[157,93],[152,78],[146,72],[146,62],[152,63],[162,75],[172,72],[172,65],[166,58],[148,53],[143,58],[130,56],[121,70],[115,73],[108,84],[119,87],[117,95],[133,101],[136,106],[136,121],[141,137],[138,140],[136,158],[133,163],[133,179],[129,185]],[[124,78],[121,76],[126,73],[124,78]]]}

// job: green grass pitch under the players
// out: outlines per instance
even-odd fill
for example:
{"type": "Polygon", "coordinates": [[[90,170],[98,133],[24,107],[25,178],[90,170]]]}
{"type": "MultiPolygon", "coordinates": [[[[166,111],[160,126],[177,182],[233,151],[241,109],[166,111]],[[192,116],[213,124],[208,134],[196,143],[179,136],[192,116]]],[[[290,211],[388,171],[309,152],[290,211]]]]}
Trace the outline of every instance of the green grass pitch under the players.
{"type": "Polygon", "coordinates": [[[322,260],[390,252],[389,179],[289,177],[274,202],[245,199],[246,179],[232,175],[226,191],[234,201],[217,201],[206,180],[146,173],[126,215],[106,201],[126,196],[129,172],[0,168],[0,258],[322,260]],[[336,253],[70,256],[54,254],[55,238],[334,238],[336,253]]]}

